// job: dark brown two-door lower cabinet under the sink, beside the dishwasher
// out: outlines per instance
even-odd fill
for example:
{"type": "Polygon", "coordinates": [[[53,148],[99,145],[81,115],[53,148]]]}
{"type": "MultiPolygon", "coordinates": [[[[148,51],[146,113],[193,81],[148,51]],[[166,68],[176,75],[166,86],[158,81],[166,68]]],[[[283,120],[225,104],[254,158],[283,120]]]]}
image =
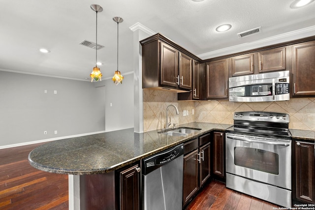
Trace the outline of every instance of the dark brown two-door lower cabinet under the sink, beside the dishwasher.
{"type": "Polygon", "coordinates": [[[210,133],[184,144],[183,206],[210,178],[210,133]]]}

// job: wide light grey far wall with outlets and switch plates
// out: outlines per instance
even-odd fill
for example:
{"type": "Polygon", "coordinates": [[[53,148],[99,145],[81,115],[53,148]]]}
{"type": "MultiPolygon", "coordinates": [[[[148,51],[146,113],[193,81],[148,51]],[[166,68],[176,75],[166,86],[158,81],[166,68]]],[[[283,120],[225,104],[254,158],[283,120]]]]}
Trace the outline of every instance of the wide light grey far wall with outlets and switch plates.
{"type": "Polygon", "coordinates": [[[104,130],[104,86],[0,71],[0,148],[104,130]]]}

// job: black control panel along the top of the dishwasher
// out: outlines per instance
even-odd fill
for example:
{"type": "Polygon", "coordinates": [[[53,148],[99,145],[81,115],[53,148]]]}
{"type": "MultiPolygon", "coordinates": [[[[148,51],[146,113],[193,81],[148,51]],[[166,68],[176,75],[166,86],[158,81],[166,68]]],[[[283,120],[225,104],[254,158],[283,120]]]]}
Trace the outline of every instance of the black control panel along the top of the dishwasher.
{"type": "Polygon", "coordinates": [[[149,174],[150,172],[154,171],[160,166],[167,164],[168,162],[172,161],[173,159],[183,154],[184,154],[184,145],[181,144],[174,148],[159,152],[151,157],[145,158],[142,160],[143,167],[144,167],[142,172],[144,175],[149,174]]]}

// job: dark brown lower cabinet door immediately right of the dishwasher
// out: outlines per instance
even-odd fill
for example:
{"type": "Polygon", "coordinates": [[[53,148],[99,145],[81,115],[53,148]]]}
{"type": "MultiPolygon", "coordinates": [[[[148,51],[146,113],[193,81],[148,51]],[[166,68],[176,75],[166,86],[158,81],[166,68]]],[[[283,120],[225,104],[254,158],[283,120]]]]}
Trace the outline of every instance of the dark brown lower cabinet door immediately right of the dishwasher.
{"type": "Polygon", "coordinates": [[[184,156],[183,206],[198,191],[198,150],[184,156]]]}

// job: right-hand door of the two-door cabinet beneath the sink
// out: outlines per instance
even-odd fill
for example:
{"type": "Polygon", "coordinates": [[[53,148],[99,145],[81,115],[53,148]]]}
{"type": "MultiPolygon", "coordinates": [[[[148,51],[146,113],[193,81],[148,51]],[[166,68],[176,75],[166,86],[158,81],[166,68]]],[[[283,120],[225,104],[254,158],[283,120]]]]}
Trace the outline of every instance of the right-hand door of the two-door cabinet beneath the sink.
{"type": "Polygon", "coordinates": [[[200,187],[206,182],[210,177],[210,143],[202,146],[200,149],[200,187]]]}

